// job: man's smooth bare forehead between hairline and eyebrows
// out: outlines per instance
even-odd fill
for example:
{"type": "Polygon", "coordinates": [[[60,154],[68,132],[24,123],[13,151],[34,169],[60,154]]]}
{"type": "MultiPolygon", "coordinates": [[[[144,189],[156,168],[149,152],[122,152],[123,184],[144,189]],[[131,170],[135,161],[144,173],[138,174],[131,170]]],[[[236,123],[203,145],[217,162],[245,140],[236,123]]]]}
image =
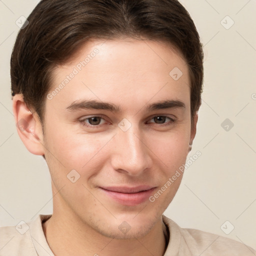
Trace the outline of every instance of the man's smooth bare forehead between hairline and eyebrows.
{"type": "Polygon", "coordinates": [[[56,93],[50,104],[62,107],[89,98],[137,108],[153,98],[184,101],[190,91],[186,61],[170,45],[152,40],[88,41],[53,70],[51,83],[49,93],[56,93]]]}

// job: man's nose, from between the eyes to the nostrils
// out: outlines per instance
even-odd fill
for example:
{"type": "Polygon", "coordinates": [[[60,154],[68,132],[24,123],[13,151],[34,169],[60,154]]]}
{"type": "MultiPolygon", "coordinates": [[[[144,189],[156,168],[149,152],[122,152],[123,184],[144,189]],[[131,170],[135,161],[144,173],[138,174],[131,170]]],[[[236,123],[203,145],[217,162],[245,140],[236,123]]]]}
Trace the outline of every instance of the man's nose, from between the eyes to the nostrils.
{"type": "Polygon", "coordinates": [[[135,124],[123,131],[118,128],[112,141],[112,167],[130,176],[139,176],[152,166],[152,149],[147,145],[146,134],[135,124]]]}

